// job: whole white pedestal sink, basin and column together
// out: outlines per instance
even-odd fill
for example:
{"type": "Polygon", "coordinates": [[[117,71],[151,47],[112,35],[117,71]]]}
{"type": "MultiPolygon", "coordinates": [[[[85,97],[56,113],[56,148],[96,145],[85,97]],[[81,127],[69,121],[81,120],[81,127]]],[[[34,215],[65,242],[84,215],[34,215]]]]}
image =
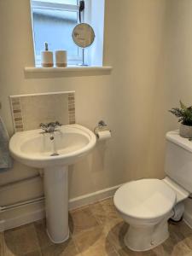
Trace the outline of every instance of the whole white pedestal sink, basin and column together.
{"type": "Polygon", "coordinates": [[[26,166],[44,168],[47,232],[51,241],[66,241],[68,231],[68,166],[90,152],[96,136],[81,125],[62,125],[52,134],[41,129],[16,132],[9,150],[26,166]]]}

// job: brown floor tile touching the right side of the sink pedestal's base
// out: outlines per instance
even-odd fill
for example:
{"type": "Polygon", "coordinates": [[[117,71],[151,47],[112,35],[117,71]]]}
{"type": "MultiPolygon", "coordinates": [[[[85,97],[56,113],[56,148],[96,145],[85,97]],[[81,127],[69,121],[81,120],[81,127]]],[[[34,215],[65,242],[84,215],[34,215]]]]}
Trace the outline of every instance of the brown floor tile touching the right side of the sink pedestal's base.
{"type": "Polygon", "coordinates": [[[96,226],[98,226],[98,222],[89,207],[70,212],[69,228],[73,235],[96,226]]]}

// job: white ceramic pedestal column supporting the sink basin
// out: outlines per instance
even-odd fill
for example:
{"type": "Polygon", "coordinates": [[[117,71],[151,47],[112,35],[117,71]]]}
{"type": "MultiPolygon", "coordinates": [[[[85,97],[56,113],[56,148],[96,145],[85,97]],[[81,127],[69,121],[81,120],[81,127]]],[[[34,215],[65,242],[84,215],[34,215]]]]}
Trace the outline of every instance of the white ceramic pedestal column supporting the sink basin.
{"type": "Polygon", "coordinates": [[[54,243],[66,241],[68,229],[68,166],[44,169],[47,233],[54,243]]]}

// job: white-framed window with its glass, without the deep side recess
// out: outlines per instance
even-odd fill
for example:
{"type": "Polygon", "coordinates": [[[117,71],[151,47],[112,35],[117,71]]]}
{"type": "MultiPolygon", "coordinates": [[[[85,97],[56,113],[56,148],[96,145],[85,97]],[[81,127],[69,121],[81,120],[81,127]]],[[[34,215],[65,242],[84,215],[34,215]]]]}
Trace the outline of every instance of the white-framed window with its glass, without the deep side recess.
{"type": "Polygon", "coordinates": [[[73,43],[73,27],[79,22],[77,0],[32,0],[33,38],[36,66],[41,63],[41,51],[66,49],[69,64],[82,63],[82,49],[73,43]]]}

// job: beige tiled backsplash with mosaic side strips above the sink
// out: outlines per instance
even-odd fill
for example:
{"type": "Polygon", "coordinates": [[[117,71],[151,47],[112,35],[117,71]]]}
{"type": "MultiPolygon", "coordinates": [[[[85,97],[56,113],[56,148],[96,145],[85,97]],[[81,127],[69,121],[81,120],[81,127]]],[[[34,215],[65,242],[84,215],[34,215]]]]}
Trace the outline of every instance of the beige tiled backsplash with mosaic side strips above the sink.
{"type": "Polygon", "coordinates": [[[75,123],[75,93],[10,96],[15,131],[38,129],[40,123],[59,121],[62,125],[75,123]]]}

